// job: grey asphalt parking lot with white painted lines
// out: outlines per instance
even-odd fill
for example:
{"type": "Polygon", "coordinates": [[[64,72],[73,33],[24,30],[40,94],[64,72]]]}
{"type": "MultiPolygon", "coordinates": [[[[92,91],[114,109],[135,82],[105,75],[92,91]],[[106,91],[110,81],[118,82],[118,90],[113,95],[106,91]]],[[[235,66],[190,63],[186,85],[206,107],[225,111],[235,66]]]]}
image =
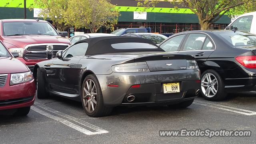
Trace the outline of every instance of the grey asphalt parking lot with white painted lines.
{"type": "Polygon", "coordinates": [[[82,104],[51,96],[28,116],[0,115],[1,144],[256,143],[256,92],[229,94],[221,102],[202,97],[185,109],[116,107],[111,116],[86,116],[82,104]],[[251,130],[250,137],[160,137],[159,130],[251,130]]]}

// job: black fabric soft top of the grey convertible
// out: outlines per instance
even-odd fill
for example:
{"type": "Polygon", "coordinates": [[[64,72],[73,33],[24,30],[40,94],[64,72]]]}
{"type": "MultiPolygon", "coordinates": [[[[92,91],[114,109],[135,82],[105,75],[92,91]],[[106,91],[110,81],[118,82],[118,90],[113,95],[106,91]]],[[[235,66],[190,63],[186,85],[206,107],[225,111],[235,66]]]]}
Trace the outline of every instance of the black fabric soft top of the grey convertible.
{"type": "MultiPolygon", "coordinates": [[[[88,48],[86,50],[85,55],[94,55],[94,54],[106,54],[106,53],[116,53],[116,52],[148,52],[148,51],[156,51],[156,52],[164,52],[162,48],[154,44],[151,40],[137,37],[125,37],[125,36],[103,36],[103,37],[95,37],[88,38],[84,40],[80,40],[75,44],[79,44],[82,42],[88,43],[88,48]],[[134,45],[130,44],[130,48],[113,48],[112,44],[119,43],[146,43],[155,46],[156,48],[132,48],[134,45]]],[[[75,45],[74,44],[74,45],[75,45]]],[[[122,46],[122,45],[121,45],[122,46]]]]}

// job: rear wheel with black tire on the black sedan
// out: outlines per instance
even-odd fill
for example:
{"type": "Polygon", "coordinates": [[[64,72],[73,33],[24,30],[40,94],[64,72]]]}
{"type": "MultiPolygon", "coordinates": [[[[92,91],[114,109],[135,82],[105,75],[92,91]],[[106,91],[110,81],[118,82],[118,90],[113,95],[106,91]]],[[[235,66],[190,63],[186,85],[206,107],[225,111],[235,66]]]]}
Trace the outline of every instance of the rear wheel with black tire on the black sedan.
{"type": "Polygon", "coordinates": [[[223,100],[227,96],[224,82],[220,75],[214,70],[206,70],[202,74],[200,90],[202,96],[210,101],[223,100]]]}

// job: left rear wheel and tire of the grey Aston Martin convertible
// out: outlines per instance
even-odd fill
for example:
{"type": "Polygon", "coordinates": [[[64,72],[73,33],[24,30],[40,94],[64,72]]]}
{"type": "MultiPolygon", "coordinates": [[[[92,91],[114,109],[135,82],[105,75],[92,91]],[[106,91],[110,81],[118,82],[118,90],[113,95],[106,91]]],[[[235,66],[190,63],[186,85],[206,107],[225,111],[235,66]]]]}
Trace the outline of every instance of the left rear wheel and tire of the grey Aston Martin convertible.
{"type": "Polygon", "coordinates": [[[108,116],[112,112],[112,107],[104,106],[100,83],[94,74],[84,79],[81,99],[84,111],[90,117],[108,116]]]}

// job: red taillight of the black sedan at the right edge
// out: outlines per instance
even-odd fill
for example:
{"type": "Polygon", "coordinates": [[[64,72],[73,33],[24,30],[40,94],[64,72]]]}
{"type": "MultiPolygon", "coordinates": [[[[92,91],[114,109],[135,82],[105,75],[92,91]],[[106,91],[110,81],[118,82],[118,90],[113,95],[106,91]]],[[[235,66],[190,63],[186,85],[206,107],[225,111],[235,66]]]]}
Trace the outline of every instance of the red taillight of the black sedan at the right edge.
{"type": "Polygon", "coordinates": [[[236,60],[246,68],[256,68],[256,56],[237,56],[236,60]]]}

